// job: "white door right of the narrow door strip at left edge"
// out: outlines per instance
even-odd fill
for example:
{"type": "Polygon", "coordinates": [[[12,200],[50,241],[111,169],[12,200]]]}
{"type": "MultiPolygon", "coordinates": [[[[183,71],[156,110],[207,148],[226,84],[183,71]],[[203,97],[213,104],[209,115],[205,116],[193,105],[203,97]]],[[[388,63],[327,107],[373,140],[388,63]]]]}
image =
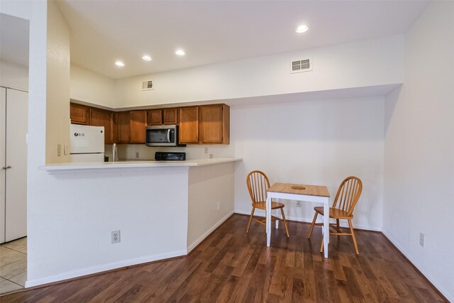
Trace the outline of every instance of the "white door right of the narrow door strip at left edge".
{"type": "Polygon", "coordinates": [[[28,94],[6,89],[5,241],[27,235],[28,94]]]}

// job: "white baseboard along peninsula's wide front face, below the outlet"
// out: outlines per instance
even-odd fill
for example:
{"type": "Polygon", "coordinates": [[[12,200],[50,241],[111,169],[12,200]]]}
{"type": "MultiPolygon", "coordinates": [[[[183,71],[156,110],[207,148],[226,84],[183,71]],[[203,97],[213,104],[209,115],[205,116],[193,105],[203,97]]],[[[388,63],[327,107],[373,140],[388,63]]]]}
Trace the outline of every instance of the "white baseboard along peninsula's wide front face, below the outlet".
{"type": "Polygon", "coordinates": [[[58,275],[50,275],[48,277],[40,277],[38,279],[26,280],[26,287],[33,287],[51,282],[72,279],[73,277],[82,277],[84,275],[91,275],[96,272],[104,272],[106,270],[114,270],[116,268],[124,268],[125,266],[137,265],[140,263],[148,263],[156,260],[167,258],[179,257],[180,255],[187,255],[187,250],[177,250],[170,253],[162,253],[160,255],[147,255],[145,257],[123,260],[114,263],[107,263],[104,265],[93,266],[91,268],[83,268],[81,270],[74,270],[70,272],[63,272],[58,275]]]}

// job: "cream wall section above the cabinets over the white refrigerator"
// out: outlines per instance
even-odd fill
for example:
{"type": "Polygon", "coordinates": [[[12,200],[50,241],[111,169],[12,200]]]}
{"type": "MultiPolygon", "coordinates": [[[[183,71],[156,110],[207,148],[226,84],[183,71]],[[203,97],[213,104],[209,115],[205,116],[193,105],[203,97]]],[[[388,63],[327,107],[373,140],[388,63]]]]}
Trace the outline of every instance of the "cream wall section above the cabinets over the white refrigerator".
{"type": "Polygon", "coordinates": [[[115,108],[115,81],[108,77],[71,65],[71,99],[115,108]]]}

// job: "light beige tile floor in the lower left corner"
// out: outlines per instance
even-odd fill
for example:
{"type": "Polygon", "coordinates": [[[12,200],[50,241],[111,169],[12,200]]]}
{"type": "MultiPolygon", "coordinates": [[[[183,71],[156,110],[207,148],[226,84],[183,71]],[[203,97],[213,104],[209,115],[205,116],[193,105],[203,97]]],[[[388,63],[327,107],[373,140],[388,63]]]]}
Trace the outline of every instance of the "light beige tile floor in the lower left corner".
{"type": "Polygon", "coordinates": [[[0,294],[21,290],[27,279],[27,238],[0,245],[0,294]]]}

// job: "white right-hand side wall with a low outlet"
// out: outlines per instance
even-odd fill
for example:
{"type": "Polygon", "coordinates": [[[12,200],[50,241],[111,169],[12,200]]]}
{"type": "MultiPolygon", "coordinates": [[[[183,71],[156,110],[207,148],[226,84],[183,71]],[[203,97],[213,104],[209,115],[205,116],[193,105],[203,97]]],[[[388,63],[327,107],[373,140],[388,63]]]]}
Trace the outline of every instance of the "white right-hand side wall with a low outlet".
{"type": "Polygon", "coordinates": [[[454,302],[454,2],[405,35],[405,81],[385,102],[383,230],[454,302]],[[425,247],[419,245],[425,234],[425,247]]]}

